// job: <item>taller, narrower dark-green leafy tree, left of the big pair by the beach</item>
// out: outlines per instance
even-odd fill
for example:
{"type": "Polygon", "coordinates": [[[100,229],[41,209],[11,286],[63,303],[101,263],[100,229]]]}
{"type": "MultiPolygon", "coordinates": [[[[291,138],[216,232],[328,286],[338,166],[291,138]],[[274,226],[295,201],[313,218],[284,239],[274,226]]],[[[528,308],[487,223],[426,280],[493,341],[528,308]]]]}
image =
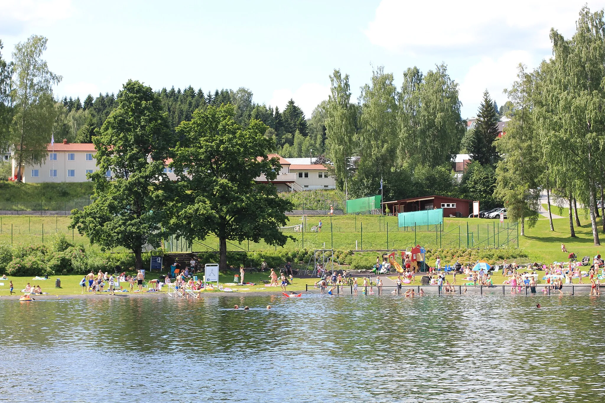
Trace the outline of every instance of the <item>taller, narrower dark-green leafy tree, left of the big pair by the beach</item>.
{"type": "Polygon", "coordinates": [[[103,249],[131,250],[141,269],[143,248],[160,246],[173,197],[163,168],[174,135],[157,94],[129,80],[93,142],[99,166],[89,174],[94,202],[72,211],[71,226],[103,249]]]}

